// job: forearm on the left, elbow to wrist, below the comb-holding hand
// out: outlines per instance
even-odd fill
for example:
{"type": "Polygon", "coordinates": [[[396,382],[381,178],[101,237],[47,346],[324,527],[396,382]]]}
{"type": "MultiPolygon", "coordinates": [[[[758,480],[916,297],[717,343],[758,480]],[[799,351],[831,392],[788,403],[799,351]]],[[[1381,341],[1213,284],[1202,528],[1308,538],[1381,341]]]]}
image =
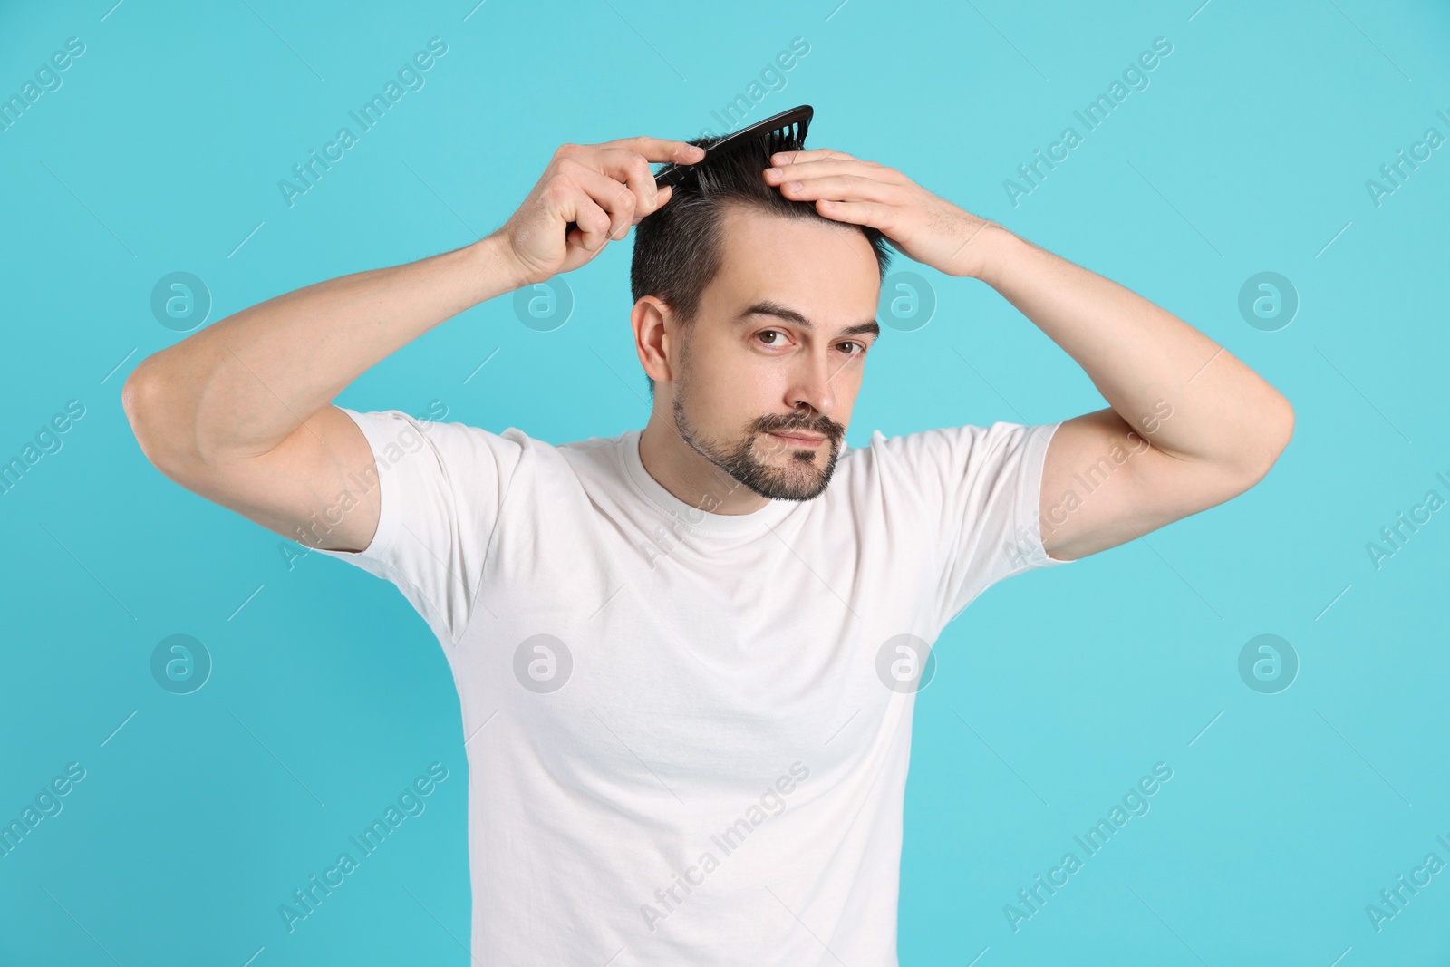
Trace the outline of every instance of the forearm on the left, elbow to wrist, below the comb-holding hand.
{"type": "Polygon", "coordinates": [[[273,449],[378,361],[510,291],[515,273],[493,238],[277,296],[148,357],[126,383],[148,455],[273,449]]]}

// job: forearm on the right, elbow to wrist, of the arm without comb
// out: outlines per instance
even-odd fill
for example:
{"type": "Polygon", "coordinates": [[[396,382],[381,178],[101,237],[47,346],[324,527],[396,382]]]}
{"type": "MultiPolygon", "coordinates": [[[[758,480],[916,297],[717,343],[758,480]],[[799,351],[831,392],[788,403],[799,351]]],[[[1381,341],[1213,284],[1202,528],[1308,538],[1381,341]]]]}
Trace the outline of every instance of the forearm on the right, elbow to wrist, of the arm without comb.
{"type": "Polygon", "coordinates": [[[1273,461],[1290,407],[1259,374],[1134,291],[1006,229],[977,241],[987,236],[979,277],[1061,346],[1156,448],[1246,473],[1273,461]]]}

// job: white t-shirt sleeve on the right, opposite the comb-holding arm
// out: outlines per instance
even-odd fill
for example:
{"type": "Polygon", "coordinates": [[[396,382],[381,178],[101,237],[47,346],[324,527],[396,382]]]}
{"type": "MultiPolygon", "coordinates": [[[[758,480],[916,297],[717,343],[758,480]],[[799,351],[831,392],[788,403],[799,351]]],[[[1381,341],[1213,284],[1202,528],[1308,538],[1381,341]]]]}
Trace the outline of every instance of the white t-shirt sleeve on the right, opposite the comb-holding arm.
{"type": "Polygon", "coordinates": [[[889,441],[924,515],[928,552],[941,563],[942,626],[1005,577],[1072,564],[1047,554],[1040,520],[1047,444],[1060,425],[996,422],[889,441]]]}

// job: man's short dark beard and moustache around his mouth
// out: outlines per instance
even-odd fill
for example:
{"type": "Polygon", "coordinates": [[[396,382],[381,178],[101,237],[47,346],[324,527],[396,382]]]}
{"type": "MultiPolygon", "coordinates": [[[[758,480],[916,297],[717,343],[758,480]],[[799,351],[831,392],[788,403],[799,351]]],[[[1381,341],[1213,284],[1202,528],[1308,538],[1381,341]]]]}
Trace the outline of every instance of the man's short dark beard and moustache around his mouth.
{"type": "Polygon", "coordinates": [[[751,420],[741,438],[735,442],[716,444],[705,439],[690,423],[689,412],[684,406],[686,394],[684,373],[676,387],[674,394],[674,426],[680,438],[705,457],[708,461],[724,470],[735,481],[750,487],[761,497],[771,500],[812,500],[825,491],[835,473],[835,461],[841,455],[841,441],[845,438],[845,428],[826,416],[761,416],[751,420]],[[831,452],[825,467],[816,467],[816,454],[821,445],[796,447],[767,433],[789,433],[805,431],[825,436],[825,444],[831,452]],[[755,457],[755,441],[763,439],[771,454],[784,454],[784,465],[766,462],[755,457]]]}

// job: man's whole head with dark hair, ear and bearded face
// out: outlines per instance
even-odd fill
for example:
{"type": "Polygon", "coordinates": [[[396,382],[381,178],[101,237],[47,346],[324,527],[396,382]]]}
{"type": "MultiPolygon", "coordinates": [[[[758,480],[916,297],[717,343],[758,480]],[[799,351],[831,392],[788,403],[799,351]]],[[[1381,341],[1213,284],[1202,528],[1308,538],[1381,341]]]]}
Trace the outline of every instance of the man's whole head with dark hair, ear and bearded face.
{"type": "Polygon", "coordinates": [[[657,416],[753,491],[808,500],[840,455],[890,252],[786,199],[768,167],[763,142],[712,158],[635,226],[632,323],[657,416]]]}

